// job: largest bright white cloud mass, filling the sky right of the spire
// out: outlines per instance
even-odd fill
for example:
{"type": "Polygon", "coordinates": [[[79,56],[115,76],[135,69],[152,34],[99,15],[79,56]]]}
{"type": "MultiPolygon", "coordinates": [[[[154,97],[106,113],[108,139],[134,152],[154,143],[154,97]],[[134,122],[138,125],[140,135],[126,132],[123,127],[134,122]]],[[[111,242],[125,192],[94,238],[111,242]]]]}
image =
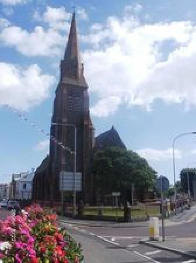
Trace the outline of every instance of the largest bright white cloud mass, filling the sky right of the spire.
{"type": "Polygon", "coordinates": [[[115,96],[128,107],[147,110],[156,99],[196,105],[196,26],[191,22],[141,24],[133,16],[109,17],[81,39],[90,45],[83,53],[90,91],[100,100],[115,96]],[[167,43],[171,51],[164,48],[167,43]]]}

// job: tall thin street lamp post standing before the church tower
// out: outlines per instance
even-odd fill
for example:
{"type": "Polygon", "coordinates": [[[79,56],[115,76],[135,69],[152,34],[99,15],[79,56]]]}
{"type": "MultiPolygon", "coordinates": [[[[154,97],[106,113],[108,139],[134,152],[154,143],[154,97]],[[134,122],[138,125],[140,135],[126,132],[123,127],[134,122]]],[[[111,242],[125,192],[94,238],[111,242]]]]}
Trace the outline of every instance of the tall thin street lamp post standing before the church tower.
{"type": "MultiPolygon", "coordinates": [[[[59,122],[52,122],[52,125],[61,125],[67,127],[74,127],[74,151],[69,148],[65,148],[68,150],[72,155],[74,155],[74,168],[73,168],[73,216],[76,215],[76,185],[75,185],[75,176],[76,176],[76,138],[77,138],[77,128],[74,124],[69,123],[59,123],[59,122]]],[[[64,148],[63,148],[64,149],[64,148]]],[[[63,201],[62,201],[63,202],[63,201]]]]}

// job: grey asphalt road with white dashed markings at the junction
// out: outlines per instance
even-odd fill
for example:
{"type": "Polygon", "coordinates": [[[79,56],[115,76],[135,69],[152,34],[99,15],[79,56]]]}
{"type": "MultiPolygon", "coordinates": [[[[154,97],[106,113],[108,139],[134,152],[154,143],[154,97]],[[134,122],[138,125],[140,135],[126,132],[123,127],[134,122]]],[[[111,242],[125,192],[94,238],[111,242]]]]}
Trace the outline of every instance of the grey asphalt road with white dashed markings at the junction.
{"type": "MultiPolygon", "coordinates": [[[[148,237],[148,227],[145,226],[125,228],[112,225],[99,227],[63,225],[66,226],[75,240],[81,243],[84,250],[84,263],[196,262],[179,254],[139,244],[142,238],[148,237]]],[[[193,236],[195,226],[195,222],[168,226],[166,233],[167,236],[171,237],[173,234],[187,237],[187,230],[189,229],[190,235],[193,236]]]]}

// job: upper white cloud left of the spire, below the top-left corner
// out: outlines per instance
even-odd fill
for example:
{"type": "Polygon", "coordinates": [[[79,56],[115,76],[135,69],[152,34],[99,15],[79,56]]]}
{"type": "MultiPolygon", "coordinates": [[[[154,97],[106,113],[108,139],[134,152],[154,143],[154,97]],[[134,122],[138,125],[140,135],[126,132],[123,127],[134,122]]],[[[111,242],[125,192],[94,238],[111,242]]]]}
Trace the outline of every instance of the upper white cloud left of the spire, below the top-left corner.
{"type": "MultiPolygon", "coordinates": [[[[53,28],[44,29],[36,26],[31,32],[21,27],[0,23],[0,41],[7,46],[15,47],[26,56],[54,56],[60,55],[61,47],[64,45],[64,37],[53,28]]],[[[1,21],[0,21],[1,22],[1,21]]]]}

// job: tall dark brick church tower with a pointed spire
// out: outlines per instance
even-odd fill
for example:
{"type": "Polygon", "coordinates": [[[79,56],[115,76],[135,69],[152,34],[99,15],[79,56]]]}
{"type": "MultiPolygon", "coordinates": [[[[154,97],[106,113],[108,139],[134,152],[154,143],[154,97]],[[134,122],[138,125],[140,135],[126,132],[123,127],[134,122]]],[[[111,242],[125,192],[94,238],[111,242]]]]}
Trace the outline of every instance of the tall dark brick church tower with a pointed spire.
{"type": "MultiPolygon", "coordinates": [[[[64,58],[60,62],[60,80],[55,92],[51,136],[74,151],[76,127],[76,172],[82,173],[82,192],[77,194],[84,202],[92,199],[90,164],[93,156],[94,128],[89,115],[88,85],[80,61],[75,13],[73,13],[64,58]]],[[[35,172],[33,199],[59,202],[60,171],[73,172],[74,155],[50,140],[50,154],[35,172]]]]}

